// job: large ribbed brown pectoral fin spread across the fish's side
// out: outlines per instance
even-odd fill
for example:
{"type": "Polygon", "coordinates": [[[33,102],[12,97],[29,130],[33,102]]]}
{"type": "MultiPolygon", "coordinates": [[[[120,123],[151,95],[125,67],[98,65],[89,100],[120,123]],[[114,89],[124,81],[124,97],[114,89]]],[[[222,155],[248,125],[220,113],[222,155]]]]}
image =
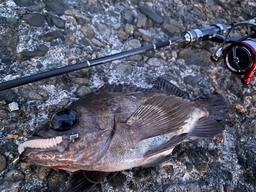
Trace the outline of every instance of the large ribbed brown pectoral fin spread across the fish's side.
{"type": "Polygon", "coordinates": [[[134,144],[180,130],[186,124],[193,104],[174,95],[162,94],[147,99],[126,121],[134,144]]]}

